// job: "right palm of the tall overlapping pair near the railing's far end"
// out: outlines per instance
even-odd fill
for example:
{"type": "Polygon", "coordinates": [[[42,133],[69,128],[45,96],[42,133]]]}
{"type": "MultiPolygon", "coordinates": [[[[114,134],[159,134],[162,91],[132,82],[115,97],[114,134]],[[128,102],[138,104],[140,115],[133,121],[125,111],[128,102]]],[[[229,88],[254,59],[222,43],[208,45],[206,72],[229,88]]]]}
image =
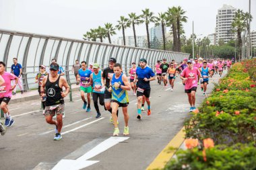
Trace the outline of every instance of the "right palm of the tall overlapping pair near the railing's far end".
{"type": "Polygon", "coordinates": [[[183,9],[181,9],[181,6],[172,8],[174,10],[173,14],[177,22],[178,52],[181,52],[181,24],[183,22],[187,22],[187,17],[184,16],[186,11],[183,11],[183,9]]]}

